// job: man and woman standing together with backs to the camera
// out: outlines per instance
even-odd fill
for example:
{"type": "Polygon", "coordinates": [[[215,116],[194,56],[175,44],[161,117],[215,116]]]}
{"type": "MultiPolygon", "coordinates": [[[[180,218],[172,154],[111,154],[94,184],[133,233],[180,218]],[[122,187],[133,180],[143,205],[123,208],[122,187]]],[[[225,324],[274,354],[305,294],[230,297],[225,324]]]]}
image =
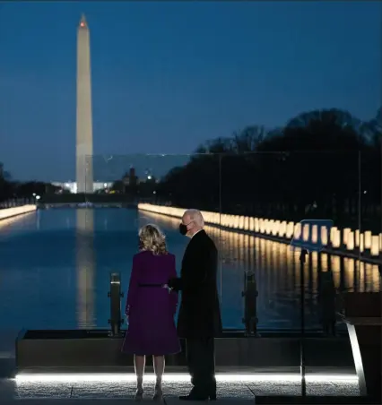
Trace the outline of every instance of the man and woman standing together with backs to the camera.
{"type": "Polygon", "coordinates": [[[175,256],[166,247],[165,236],[153,225],[139,232],[139,250],[127,294],[128,330],[123,351],[134,354],[137,390],[143,399],[145,356],[152,356],[156,375],[153,400],[162,400],[164,356],[180,351],[179,338],[186,339],[187,367],[194,385],[184,401],[216,399],[214,337],[221,333],[221,314],[216,285],[218,251],[204,231],[202,213],[187,210],[179,232],[190,237],[177,277],[175,256]],[[174,316],[182,292],[178,333],[174,316]]]}

